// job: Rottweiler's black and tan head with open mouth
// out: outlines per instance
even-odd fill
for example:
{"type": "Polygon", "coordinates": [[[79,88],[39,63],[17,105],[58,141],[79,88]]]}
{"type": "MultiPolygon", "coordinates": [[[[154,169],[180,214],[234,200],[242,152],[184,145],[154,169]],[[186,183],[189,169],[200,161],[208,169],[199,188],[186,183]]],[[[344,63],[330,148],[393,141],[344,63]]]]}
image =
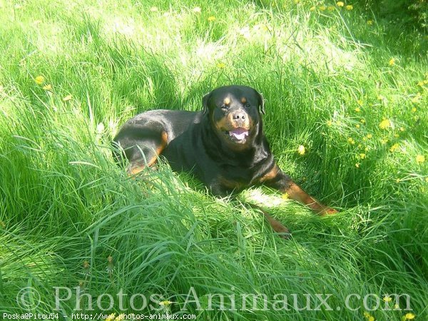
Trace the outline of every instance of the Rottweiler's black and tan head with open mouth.
{"type": "Polygon", "coordinates": [[[204,113],[218,137],[230,148],[250,146],[265,113],[263,96],[248,86],[219,87],[203,96],[204,113]]]}

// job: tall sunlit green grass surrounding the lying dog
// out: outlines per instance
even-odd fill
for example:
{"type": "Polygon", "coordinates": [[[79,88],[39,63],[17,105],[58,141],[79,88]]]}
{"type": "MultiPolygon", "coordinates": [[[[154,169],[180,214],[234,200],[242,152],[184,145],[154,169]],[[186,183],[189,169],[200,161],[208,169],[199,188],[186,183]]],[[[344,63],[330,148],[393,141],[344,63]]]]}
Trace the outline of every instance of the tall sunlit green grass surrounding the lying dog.
{"type": "MultiPolygon", "coordinates": [[[[0,1],[1,313],[56,312],[54,287],[80,286],[95,301],[128,295],[126,311],[116,300],[106,313],[133,312],[129,298],[141,293],[180,314],[193,287],[203,308],[209,293],[237,297],[236,311],[188,305],[198,320],[366,320],[376,302],[351,300],[350,310],[350,294],[378,295],[377,320],[424,320],[427,35],[357,4],[321,5],[0,1]],[[260,213],[166,164],[139,180],[116,166],[110,141],[126,119],[199,110],[204,93],[231,83],[263,93],[280,167],[340,214],[318,218],[260,188],[240,195],[266,198],[293,230],[284,241],[260,213]],[[23,307],[16,295],[27,286],[40,300],[23,307]],[[297,294],[303,307],[305,293],[331,294],[333,310],[273,309],[274,295],[297,294]],[[389,293],[409,295],[412,311],[404,300],[384,310],[389,293]],[[267,295],[268,309],[239,310],[243,294],[267,295]]],[[[60,306],[68,319],[91,312],[87,300],[76,311],[73,293],[60,306]]]]}

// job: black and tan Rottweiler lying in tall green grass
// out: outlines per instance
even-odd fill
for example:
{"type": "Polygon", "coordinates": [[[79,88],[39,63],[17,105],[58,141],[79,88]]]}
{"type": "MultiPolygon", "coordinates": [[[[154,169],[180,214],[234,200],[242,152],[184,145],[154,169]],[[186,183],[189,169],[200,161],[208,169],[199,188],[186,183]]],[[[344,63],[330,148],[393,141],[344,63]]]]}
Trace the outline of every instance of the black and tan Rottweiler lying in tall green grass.
{"type": "MultiPolygon", "coordinates": [[[[203,96],[203,111],[141,113],[123,125],[114,141],[128,158],[130,175],[153,165],[162,154],[173,170],[191,171],[214,195],[264,184],[287,193],[315,213],[336,213],[307,195],[278,168],[263,133],[264,113],[263,96],[258,91],[248,86],[224,86],[203,96]]],[[[262,212],[272,228],[287,238],[290,231],[262,212]]]]}

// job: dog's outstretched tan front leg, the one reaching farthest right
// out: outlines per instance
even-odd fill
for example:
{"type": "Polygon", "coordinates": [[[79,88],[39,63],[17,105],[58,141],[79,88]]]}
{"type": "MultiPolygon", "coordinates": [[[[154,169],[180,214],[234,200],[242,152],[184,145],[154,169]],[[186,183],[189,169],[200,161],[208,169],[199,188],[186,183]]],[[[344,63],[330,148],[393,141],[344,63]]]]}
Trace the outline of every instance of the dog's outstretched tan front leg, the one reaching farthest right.
{"type": "Polygon", "coordinates": [[[307,205],[311,210],[319,215],[334,214],[337,210],[322,205],[320,202],[308,195],[305,190],[300,188],[292,179],[282,173],[282,170],[275,165],[269,173],[264,176],[264,183],[267,186],[280,190],[281,193],[287,195],[292,200],[297,200],[300,203],[307,205]]]}

